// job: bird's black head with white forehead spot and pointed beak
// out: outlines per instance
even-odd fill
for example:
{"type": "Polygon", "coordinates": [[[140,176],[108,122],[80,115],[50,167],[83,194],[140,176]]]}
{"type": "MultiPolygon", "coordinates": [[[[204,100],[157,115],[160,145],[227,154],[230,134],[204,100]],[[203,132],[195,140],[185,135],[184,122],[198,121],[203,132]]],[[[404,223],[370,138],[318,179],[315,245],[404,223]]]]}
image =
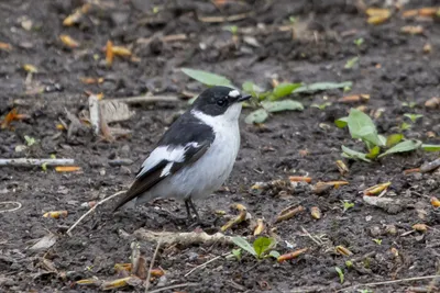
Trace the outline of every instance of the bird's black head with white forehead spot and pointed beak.
{"type": "Polygon", "coordinates": [[[212,87],[205,90],[194,102],[193,110],[210,116],[223,116],[237,121],[241,112],[241,102],[251,99],[249,94],[229,87],[212,87]]]}

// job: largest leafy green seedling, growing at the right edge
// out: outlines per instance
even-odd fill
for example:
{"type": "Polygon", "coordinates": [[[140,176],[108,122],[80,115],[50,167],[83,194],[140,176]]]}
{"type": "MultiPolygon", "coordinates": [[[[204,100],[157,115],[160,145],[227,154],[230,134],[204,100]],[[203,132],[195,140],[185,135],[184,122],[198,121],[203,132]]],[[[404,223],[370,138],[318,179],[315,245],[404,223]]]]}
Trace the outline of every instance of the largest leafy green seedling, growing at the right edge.
{"type": "Polygon", "coordinates": [[[341,117],[334,124],[340,128],[348,126],[351,137],[361,139],[365,144],[367,153],[341,146],[342,157],[350,159],[371,162],[391,154],[413,151],[419,148],[426,151],[435,151],[437,147],[440,148],[440,146],[430,148],[429,145],[424,145],[420,140],[403,140],[402,134],[393,134],[388,137],[380,135],[372,119],[358,109],[351,109],[348,117],[341,117]]]}

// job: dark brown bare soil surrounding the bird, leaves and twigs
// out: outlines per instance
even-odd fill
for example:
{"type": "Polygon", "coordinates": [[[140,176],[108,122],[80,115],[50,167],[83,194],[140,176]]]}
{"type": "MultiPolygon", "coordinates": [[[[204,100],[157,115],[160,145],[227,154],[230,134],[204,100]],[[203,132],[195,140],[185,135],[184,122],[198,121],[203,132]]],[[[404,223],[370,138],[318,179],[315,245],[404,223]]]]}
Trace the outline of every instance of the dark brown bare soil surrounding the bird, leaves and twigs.
{"type": "MultiPolygon", "coordinates": [[[[293,97],[305,104],[305,110],[274,114],[264,125],[246,125],[244,116],[251,110],[245,109],[241,119],[241,150],[227,188],[197,203],[201,216],[208,221],[216,218],[218,210],[235,215],[231,204],[242,203],[253,219],[265,219],[268,226],[265,234],[273,229],[272,235],[278,240],[277,251],[309,250],[282,263],[273,259],[258,261],[243,252],[241,261],[219,258],[185,277],[198,264],[233,247],[163,246],[154,268],[160,267],[166,273],[154,278],[150,290],[186,283],[196,284],[163,292],[413,292],[410,286],[440,288],[431,279],[362,285],[439,272],[440,214],[431,206],[430,198],[440,195],[440,173],[404,174],[404,170],[432,161],[438,154],[414,151],[372,164],[345,160],[350,171],[341,176],[336,165],[341,159],[341,145],[356,149],[362,145],[351,139],[346,129],[333,124],[352,106],[364,105],[366,113],[382,109],[384,113],[375,123],[381,133],[389,135],[398,132],[403,121],[409,122],[404,113],[419,113],[424,117],[405,131],[405,136],[439,144],[439,110],[425,106],[440,90],[438,23],[405,20],[396,11],[389,21],[370,25],[365,13],[354,4],[356,1],[344,0],[227,1],[224,5],[222,1],[189,0],[90,2],[92,8],[87,15],[67,27],[63,26],[63,20],[80,8],[81,1],[0,1],[0,42],[12,46],[0,49],[0,116],[4,117],[12,108],[29,115],[0,132],[0,157],[55,155],[73,158],[81,168],[78,172],[56,172],[52,167],[46,171],[41,167],[0,169],[0,202],[22,204],[18,211],[0,213],[0,291],[99,292],[99,286],[75,282],[119,278],[113,267],[130,262],[132,234],[136,229],[195,229],[175,224],[167,216],[166,211],[185,215],[183,204],[177,201],[155,201],[114,214],[111,213],[114,201],[109,201],[86,217],[73,230],[73,237],[65,234],[87,212],[82,203],[99,201],[130,185],[153,144],[187,108],[187,102],[182,99],[131,105],[135,115],[120,126],[132,134],[112,143],[95,137],[87,128],[68,138],[66,131],[56,127],[59,119],[68,123],[65,110],[77,116],[88,110],[85,91],[102,92],[105,99],[146,92],[184,98],[183,92],[200,92],[204,86],[186,77],[180,67],[223,75],[235,84],[251,80],[265,88],[271,88],[273,78],[306,83],[352,81],[353,86],[348,92],[341,89],[293,97]],[[213,2],[220,3],[219,7],[213,2]],[[204,19],[224,15],[239,15],[239,20],[208,23],[204,19]],[[292,31],[271,32],[272,26],[288,25],[289,16],[297,20],[295,40],[292,31]],[[231,24],[239,27],[234,37],[223,29],[231,24]],[[257,29],[258,24],[266,26],[257,29]],[[403,34],[404,25],[422,25],[424,33],[403,34]],[[80,47],[66,48],[58,38],[61,34],[70,35],[80,47]],[[164,38],[178,34],[185,40],[164,38]],[[355,45],[353,42],[361,37],[363,44],[355,45]],[[108,68],[103,52],[108,40],[131,47],[136,58],[117,57],[108,68]],[[424,53],[426,44],[431,45],[430,53],[424,53]],[[346,61],[355,56],[360,57],[359,63],[345,69],[346,61]],[[23,70],[24,64],[37,69],[32,80],[23,70]],[[103,82],[85,84],[81,77],[100,77],[103,82]],[[371,94],[371,99],[360,103],[337,102],[343,95],[356,93],[371,94]],[[324,110],[310,106],[326,101],[333,103],[324,110]],[[404,102],[415,104],[409,108],[404,102]],[[432,136],[428,132],[435,137],[428,137],[432,136]],[[16,146],[26,145],[25,135],[36,143],[18,151],[16,146]],[[109,161],[114,159],[129,159],[132,164],[110,166],[109,161]],[[256,182],[285,180],[288,176],[309,176],[312,184],[330,180],[346,180],[350,184],[319,195],[308,184],[250,191],[256,182]],[[387,181],[392,185],[384,196],[392,198],[397,207],[382,210],[363,201],[360,191],[387,181]],[[354,206],[344,212],[342,201],[354,206]],[[298,204],[306,211],[272,224],[283,209],[298,204]],[[312,206],[321,210],[320,219],[310,216],[312,206]],[[46,212],[61,210],[68,212],[67,217],[43,217],[46,212]],[[427,224],[428,230],[407,233],[417,223],[427,224]],[[56,237],[52,247],[31,249],[51,234],[56,237]],[[336,246],[344,246],[353,256],[336,252],[336,246]],[[353,264],[348,266],[346,260],[353,264]],[[344,272],[342,284],[336,267],[344,272]]],[[[440,2],[409,1],[405,9],[436,4],[440,2]]],[[[213,233],[227,221],[228,217],[220,217],[215,228],[206,230],[213,233]]],[[[246,237],[252,233],[246,222],[226,234],[246,237]]],[[[150,266],[156,243],[140,241],[140,246],[150,266]]],[[[141,285],[119,290],[144,292],[141,285]]]]}

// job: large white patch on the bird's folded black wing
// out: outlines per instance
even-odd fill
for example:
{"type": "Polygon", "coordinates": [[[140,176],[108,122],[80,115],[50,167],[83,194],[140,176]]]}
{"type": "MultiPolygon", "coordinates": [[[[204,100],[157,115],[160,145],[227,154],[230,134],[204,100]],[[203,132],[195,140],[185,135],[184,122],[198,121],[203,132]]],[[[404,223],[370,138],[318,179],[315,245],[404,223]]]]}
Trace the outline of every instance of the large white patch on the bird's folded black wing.
{"type": "Polygon", "coordinates": [[[161,177],[168,176],[174,162],[183,162],[185,160],[186,151],[190,147],[198,147],[198,143],[189,143],[185,146],[169,147],[161,146],[154,149],[150,156],[142,164],[142,170],[139,172],[136,178],[140,178],[157,164],[163,160],[169,161],[161,172],[161,177]]]}

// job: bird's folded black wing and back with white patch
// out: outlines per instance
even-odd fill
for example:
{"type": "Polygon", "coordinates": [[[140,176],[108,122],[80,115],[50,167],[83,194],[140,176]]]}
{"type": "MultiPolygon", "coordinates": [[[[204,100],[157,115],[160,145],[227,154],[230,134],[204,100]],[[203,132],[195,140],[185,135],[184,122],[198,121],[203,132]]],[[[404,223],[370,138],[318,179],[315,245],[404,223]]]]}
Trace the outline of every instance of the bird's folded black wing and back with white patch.
{"type": "Polygon", "coordinates": [[[183,114],[164,134],[136,174],[136,179],[113,211],[148,191],[155,184],[197,161],[210,147],[215,134],[190,113],[183,114]]]}

